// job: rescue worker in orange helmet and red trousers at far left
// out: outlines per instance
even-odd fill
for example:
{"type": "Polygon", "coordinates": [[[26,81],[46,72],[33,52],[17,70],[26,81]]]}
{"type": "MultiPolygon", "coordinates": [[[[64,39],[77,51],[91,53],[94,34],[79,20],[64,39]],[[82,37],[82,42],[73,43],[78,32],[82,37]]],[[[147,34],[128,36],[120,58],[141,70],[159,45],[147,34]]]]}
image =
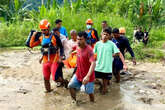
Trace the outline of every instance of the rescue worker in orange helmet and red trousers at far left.
{"type": "Polygon", "coordinates": [[[35,41],[37,32],[34,32],[31,40],[30,47],[33,48],[41,44],[41,53],[43,55],[43,76],[44,76],[44,85],[46,92],[51,92],[50,85],[50,75],[52,74],[52,79],[56,82],[61,82],[67,87],[67,80],[62,78],[62,74],[57,72],[59,63],[62,61],[64,50],[60,38],[50,33],[50,23],[48,20],[43,19],[40,21],[39,27],[41,29],[41,36],[38,41],[35,41]],[[60,48],[60,54],[58,52],[60,48]]]}

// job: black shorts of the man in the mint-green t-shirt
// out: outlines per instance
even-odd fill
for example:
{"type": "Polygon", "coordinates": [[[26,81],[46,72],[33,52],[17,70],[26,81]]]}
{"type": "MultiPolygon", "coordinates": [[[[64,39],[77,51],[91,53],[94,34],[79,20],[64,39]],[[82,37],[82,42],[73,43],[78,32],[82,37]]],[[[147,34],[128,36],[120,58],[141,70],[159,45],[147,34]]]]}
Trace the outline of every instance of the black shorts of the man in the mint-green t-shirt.
{"type": "Polygon", "coordinates": [[[99,79],[111,80],[112,79],[112,73],[103,73],[103,72],[95,71],[95,77],[99,78],[99,79]]]}

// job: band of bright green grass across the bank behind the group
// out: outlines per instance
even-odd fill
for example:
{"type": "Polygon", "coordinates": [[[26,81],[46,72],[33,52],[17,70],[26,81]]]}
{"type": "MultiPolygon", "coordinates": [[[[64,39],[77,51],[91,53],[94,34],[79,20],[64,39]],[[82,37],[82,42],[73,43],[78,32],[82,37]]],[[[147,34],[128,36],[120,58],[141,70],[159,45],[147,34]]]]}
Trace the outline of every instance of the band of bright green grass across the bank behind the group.
{"type": "MultiPolygon", "coordinates": [[[[63,26],[67,29],[68,35],[71,29],[77,31],[85,30],[85,21],[91,18],[94,21],[93,27],[98,31],[100,36],[101,22],[107,20],[112,28],[125,27],[126,35],[135,52],[137,60],[153,60],[159,61],[164,57],[164,53],[160,49],[165,48],[165,27],[153,27],[149,33],[149,43],[145,47],[142,43],[139,45],[132,44],[134,24],[127,18],[120,17],[118,14],[105,12],[89,13],[85,10],[78,12],[71,11],[69,8],[60,8],[59,10],[50,8],[49,10],[42,7],[43,13],[31,12],[30,20],[16,21],[13,23],[0,24],[0,48],[24,49],[24,44],[31,29],[39,31],[39,21],[48,19],[51,23],[51,29],[55,27],[54,21],[58,18],[62,19],[63,26]]],[[[69,36],[70,37],[70,36],[69,36]]],[[[37,47],[39,48],[39,47],[37,47]]],[[[127,58],[130,56],[127,54],[127,58]]]]}

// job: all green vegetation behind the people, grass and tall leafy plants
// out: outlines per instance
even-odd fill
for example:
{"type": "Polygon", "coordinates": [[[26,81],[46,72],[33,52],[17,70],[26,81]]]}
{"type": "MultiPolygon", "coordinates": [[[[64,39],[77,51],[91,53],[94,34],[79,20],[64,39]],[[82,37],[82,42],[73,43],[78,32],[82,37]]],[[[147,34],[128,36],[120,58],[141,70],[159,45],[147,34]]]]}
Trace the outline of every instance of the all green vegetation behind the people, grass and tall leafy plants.
{"type": "MultiPolygon", "coordinates": [[[[2,0],[3,1],[3,0],[2,0]]],[[[39,31],[41,19],[48,19],[51,29],[54,21],[63,20],[68,33],[71,29],[85,30],[85,21],[91,18],[94,28],[101,32],[101,22],[107,20],[111,27],[125,27],[126,35],[132,44],[135,25],[151,29],[149,44],[133,44],[137,59],[161,59],[159,50],[165,45],[165,2],[162,0],[77,0],[69,3],[64,0],[59,5],[56,0],[47,0],[38,10],[27,10],[31,4],[23,7],[24,0],[6,0],[7,5],[0,5],[0,47],[23,46],[31,29],[39,31]],[[143,12],[140,12],[143,9],[143,12]]],[[[33,4],[35,1],[31,2],[33,4]]],[[[0,1],[1,3],[1,1],[0,1]]],[[[28,3],[30,3],[28,1],[28,3]]],[[[36,3],[39,4],[39,3],[36,3]]],[[[129,55],[128,55],[129,56],[129,55]]]]}

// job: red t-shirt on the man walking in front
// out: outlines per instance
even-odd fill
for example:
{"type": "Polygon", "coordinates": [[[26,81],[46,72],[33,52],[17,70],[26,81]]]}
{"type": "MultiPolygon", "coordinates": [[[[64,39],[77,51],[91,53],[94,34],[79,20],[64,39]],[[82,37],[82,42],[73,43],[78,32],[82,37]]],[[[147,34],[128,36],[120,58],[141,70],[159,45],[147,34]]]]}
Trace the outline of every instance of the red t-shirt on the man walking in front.
{"type": "MultiPolygon", "coordinates": [[[[77,48],[77,71],[76,76],[79,81],[83,81],[83,78],[87,75],[91,62],[95,61],[94,53],[91,46],[86,45],[85,48],[77,48]]],[[[90,76],[89,82],[95,80],[94,71],[90,76]]]]}

